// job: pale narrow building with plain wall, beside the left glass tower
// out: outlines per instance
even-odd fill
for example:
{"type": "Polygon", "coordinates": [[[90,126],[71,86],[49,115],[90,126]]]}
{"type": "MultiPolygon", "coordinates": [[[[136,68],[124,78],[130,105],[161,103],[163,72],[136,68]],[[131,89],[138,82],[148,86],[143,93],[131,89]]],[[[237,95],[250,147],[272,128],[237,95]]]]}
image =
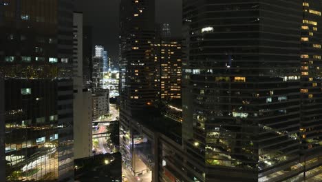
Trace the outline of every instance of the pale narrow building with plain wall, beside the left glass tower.
{"type": "Polygon", "coordinates": [[[83,13],[74,12],[74,159],[92,156],[92,92],[83,88],[83,13]]]}

